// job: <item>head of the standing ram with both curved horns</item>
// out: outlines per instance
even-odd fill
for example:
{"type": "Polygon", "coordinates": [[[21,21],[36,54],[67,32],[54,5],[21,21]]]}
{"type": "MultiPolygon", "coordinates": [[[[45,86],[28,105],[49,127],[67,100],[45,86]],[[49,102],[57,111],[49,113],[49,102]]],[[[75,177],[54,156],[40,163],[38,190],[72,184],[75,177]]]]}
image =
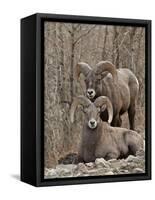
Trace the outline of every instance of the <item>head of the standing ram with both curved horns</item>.
{"type": "Polygon", "coordinates": [[[115,66],[109,61],[101,61],[94,68],[87,63],[79,62],[76,68],[77,78],[80,74],[84,75],[86,85],[86,96],[93,101],[102,94],[102,79],[110,73],[113,81],[117,81],[117,72],[115,66]]]}

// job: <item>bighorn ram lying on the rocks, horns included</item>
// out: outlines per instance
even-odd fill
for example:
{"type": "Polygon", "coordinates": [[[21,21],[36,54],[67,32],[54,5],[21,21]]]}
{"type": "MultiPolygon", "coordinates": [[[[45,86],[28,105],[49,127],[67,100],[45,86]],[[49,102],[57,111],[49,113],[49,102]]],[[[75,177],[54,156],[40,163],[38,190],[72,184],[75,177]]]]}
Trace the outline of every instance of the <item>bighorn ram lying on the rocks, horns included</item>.
{"type": "Polygon", "coordinates": [[[85,113],[78,162],[93,162],[101,157],[106,160],[125,158],[129,154],[135,155],[143,146],[143,139],[137,132],[110,126],[113,109],[108,97],[100,96],[94,103],[85,96],[75,98],[71,106],[72,123],[78,105],[85,113]],[[103,122],[99,116],[105,108],[109,115],[108,122],[103,122]]]}

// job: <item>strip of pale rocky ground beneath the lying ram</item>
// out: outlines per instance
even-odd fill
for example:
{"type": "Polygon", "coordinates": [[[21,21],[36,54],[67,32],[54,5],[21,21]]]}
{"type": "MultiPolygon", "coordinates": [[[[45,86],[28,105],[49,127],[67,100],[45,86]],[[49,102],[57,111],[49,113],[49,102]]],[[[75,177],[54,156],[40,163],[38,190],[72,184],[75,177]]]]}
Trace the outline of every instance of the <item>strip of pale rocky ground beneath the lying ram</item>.
{"type": "MultiPolygon", "coordinates": [[[[67,158],[70,158],[68,155],[67,158]]],[[[104,176],[145,172],[145,152],[140,150],[137,156],[129,155],[126,159],[97,158],[95,162],[78,164],[58,164],[56,169],[45,168],[45,178],[104,176]]]]}

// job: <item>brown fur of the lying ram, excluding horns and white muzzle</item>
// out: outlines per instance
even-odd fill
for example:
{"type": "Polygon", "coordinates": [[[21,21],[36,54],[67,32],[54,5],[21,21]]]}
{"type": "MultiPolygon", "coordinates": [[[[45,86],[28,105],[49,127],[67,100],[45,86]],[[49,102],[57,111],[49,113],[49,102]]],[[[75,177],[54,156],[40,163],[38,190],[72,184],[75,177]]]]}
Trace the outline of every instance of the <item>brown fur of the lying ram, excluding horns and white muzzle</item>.
{"type": "Polygon", "coordinates": [[[136,151],[143,146],[142,137],[135,131],[112,127],[107,122],[103,122],[97,115],[97,109],[95,103],[90,103],[87,109],[84,106],[85,122],[78,162],[93,162],[96,158],[118,159],[126,158],[129,154],[135,155],[136,151]],[[95,129],[88,126],[88,121],[92,118],[97,122],[95,129]]]}

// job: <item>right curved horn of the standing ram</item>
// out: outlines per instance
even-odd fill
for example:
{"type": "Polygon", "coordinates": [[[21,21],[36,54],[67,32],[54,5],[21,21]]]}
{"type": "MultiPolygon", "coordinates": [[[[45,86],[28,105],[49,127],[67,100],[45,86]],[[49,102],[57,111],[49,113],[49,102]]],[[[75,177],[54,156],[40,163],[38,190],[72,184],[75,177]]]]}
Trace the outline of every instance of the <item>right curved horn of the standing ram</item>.
{"type": "Polygon", "coordinates": [[[111,73],[114,81],[117,81],[116,67],[109,61],[100,61],[95,68],[95,74],[100,75],[103,72],[111,73]]]}

